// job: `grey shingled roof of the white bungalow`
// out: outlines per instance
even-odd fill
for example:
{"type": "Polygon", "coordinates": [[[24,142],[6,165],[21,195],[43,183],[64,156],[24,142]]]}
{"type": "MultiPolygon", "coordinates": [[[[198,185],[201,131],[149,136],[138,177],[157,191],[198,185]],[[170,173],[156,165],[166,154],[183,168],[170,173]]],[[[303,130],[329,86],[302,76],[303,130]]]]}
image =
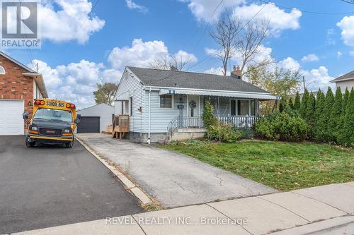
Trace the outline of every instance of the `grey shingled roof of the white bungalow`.
{"type": "Polygon", "coordinates": [[[168,71],[154,68],[137,68],[131,66],[127,68],[129,68],[144,85],[148,86],[269,93],[251,83],[231,76],[168,71]]]}

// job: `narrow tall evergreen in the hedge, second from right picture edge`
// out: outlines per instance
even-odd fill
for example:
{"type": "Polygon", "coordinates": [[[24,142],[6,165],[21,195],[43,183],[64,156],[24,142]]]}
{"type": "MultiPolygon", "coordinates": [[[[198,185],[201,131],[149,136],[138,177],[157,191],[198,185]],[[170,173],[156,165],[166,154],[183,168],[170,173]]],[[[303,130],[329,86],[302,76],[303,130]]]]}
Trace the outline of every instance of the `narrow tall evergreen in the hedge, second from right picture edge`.
{"type": "Polygon", "coordinates": [[[331,115],[329,116],[329,133],[331,133],[330,142],[336,142],[339,135],[342,113],[342,92],[341,88],[337,88],[336,97],[334,98],[333,106],[331,107],[331,115]]]}

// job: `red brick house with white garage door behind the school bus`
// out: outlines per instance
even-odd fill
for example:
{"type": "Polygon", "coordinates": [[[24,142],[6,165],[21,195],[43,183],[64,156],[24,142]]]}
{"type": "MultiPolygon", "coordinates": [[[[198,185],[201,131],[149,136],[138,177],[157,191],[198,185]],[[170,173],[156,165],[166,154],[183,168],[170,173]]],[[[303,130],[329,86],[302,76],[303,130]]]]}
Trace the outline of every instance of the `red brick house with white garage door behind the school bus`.
{"type": "Polygon", "coordinates": [[[23,135],[23,112],[32,114],[33,100],[47,97],[42,74],[0,52],[0,135],[23,135]]]}

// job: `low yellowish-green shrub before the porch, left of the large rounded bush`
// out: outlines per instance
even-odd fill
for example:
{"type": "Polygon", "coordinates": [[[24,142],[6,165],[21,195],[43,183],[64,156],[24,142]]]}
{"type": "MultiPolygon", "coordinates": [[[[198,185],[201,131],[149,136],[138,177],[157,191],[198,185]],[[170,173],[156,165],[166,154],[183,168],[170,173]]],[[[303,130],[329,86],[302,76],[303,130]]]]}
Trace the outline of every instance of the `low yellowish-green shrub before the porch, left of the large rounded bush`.
{"type": "Polygon", "coordinates": [[[234,143],[241,138],[241,132],[236,131],[230,123],[217,121],[207,128],[205,137],[209,140],[217,140],[224,143],[234,143]]]}

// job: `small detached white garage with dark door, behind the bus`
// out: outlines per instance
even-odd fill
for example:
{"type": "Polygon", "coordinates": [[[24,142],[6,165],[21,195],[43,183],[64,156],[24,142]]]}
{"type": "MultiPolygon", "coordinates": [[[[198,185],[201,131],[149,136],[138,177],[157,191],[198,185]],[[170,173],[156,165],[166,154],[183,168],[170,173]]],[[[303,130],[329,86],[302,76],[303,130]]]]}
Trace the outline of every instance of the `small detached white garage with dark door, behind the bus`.
{"type": "Polygon", "coordinates": [[[114,107],[108,104],[96,104],[77,112],[81,115],[77,133],[101,133],[112,125],[114,107]]]}

